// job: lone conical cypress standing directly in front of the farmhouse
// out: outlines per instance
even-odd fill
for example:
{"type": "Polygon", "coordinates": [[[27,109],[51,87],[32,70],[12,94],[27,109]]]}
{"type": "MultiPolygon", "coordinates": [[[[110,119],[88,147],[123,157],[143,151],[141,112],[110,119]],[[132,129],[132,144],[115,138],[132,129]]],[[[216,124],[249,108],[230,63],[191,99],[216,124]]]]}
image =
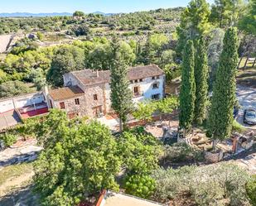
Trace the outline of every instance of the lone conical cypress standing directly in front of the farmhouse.
{"type": "Polygon", "coordinates": [[[120,44],[117,40],[113,42],[113,60],[110,69],[110,98],[111,107],[120,119],[120,132],[123,131],[123,124],[127,122],[127,115],[133,111],[133,93],[128,88],[129,81],[127,78],[128,65],[120,52],[120,44]]]}

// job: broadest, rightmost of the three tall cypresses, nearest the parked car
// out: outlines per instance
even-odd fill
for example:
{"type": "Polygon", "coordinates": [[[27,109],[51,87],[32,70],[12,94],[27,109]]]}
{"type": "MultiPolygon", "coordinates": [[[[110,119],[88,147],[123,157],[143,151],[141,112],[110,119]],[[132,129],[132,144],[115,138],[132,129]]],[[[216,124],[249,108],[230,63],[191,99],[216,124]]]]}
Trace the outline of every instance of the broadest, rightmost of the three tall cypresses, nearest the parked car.
{"type": "Polygon", "coordinates": [[[230,136],[232,122],[234,121],[235,74],[238,65],[238,36],[236,28],[230,27],[225,32],[223,43],[224,46],[220,55],[213,89],[208,125],[214,149],[217,140],[224,140],[230,136]]]}

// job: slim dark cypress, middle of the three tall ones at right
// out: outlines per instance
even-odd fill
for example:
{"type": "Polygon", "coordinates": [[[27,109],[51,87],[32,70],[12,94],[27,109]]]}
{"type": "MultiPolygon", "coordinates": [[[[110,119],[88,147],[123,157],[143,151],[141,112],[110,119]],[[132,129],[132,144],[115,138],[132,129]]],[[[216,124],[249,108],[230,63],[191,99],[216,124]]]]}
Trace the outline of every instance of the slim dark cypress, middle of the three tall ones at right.
{"type": "Polygon", "coordinates": [[[208,60],[205,40],[203,37],[196,41],[195,56],[195,81],[196,81],[196,103],[195,122],[201,124],[205,120],[206,103],[208,97],[208,60]]]}

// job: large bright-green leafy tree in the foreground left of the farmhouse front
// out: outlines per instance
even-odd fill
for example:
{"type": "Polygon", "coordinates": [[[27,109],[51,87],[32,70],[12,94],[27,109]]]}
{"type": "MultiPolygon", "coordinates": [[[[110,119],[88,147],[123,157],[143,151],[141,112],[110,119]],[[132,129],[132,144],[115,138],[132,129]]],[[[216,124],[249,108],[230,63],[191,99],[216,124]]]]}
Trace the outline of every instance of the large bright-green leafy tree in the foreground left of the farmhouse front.
{"type": "Polygon", "coordinates": [[[77,205],[101,189],[118,188],[114,177],[121,159],[109,129],[99,122],[68,122],[64,115],[53,111],[43,122],[55,125],[55,132],[45,131],[51,143],[45,141],[35,163],[35,189],[42,205],[77,205]]]}

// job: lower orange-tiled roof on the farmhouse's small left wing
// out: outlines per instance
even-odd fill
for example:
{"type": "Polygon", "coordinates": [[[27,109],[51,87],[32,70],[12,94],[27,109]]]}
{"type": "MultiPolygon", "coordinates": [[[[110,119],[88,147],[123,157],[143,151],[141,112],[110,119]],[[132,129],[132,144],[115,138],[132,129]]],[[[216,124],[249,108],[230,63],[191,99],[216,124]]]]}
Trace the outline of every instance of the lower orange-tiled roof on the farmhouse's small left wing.
{"type": "Polygon", "coordinates": [[[51,98],[55,101],[60,101],[69,98],[80,97],[85,94],[78,86],[64,87],[59,89],[52,89],[49,91],[51,98]]]}

